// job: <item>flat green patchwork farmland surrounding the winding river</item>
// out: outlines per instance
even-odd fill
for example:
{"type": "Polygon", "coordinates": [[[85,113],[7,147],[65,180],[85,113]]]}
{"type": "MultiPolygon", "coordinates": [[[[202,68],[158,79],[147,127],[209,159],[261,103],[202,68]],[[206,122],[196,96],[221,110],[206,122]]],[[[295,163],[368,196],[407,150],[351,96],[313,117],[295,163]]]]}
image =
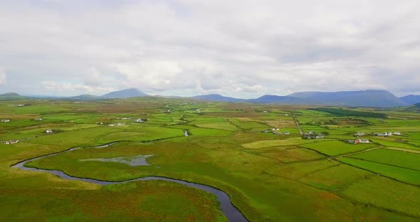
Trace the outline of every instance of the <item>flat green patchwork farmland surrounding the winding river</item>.
{"type": "Polygon", "coordinates": [[[73,147],[25,166],[204,184],[248,221],[420,220],[417,113],[157,97],[16,102],[0,103],[0,119],[11,120],[0,123],[1,221],[227,221],[216,196],[170,181],[101,186],[11,167],[73,147]],[[325,138],[303,139],[293,115],[303,132],[325,138]],[[370,143],[348,142],[357,132],[370,143]],[[127,164],[136,158],[147,164],[127,164]]]}

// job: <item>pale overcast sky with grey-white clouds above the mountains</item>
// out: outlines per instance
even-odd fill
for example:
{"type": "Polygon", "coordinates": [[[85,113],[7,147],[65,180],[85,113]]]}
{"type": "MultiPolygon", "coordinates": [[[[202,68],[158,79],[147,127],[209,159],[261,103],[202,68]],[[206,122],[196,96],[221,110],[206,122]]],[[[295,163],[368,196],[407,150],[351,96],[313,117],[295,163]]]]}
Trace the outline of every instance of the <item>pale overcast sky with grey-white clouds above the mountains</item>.
{"type": "Polygon", "coordinates": [[[420,94],[420,1],[0,1],[0,93],[420,94]]]}

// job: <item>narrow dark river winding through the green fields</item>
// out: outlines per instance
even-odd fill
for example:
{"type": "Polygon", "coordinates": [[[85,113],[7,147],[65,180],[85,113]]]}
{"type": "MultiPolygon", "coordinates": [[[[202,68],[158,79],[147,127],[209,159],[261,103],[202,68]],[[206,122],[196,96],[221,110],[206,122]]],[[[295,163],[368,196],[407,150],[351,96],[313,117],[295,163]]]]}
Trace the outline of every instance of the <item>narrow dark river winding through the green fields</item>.
{"type": "MultiPolygon", "coordinates": [[[[95,148],[109,147],[112,144],[115,144],[115,142],[111,143],[111,144],[105,144],[103,146],[98,146],[98,147],[95,147],[95,148]]],[[[11,167],[15,167],[15,168],[18,168],[18,169],[23,169],[23,170],[28,170],[28,171],[48,172],[48,173],[60,176],[62,179],[70,179],[70,180],[75,180],[75,181],[85,181],[85,182],[89,182],[89,183],[93,183],[93,184],[100,184],[100,185],[104,185],[104,186],[109,185],[109,184],[121,184],[121,183],[127,183],[127,182],[132,182],[132,181],[150,181],[150,180],[172,181],[172,182],[177,183],[177,184],[183,184],[185,186],[191,186],[191,187],[194,187],[196,189],[201,189],[202,191],[206,191],[206,192],[209,192],[211,194],[216,195],[217,200],[220,202],[221,212],[224,213],[224,215],[226,216],[226,218],[229,219],[229,221],[235,221],[235,222],[236,221],[238,221],[238,222],[247,221],[246,218],[242,215],[242,213],[240,211],[238,211],[238,209],[235,206],[232,205],[231,199],[229,198],[229,196],[224,191],[221,191],[219,189],[215,189],[214,187],[206,186],[206,185],[203,185],[203,184],[194,184],[194,183],[190,183],[190,182],[187,182],[187,181],[182,181],[182,180],[179,180],[179,179],[170,179],[170,178],[160,177],[160,176],[147,176],[147,177],[130,179],[130,180],[119,181],[119,182],[100,181],[100,180],[96,180],[96,179],[85,179],[85,178],[80,178],[80,177],[75,177],[75,176],[69,176],[69,175],[65,174],[63,171],[58,171],[58,170],[46,170],[46,169],[38,169],[38,168],[34,168],[34,167],[24,166],[27,162],[31,162],[31,161],[36,160],[36,159],[51,157],[51,156],[55,156],[55,155],[58,155],[58,154],[63,154],[65,152],[72,152],[73,150],[76,150],[76,149],[80,149],[80,147],[75,147],[75,148],[72,148],[72,149],[68,149],[68,150],[65,150],[63,152],[46,154],[46,155],[43,155],[41,157],[27,159],[23,162],[19,162],[18,164],[15,164],[11,167]]]]}

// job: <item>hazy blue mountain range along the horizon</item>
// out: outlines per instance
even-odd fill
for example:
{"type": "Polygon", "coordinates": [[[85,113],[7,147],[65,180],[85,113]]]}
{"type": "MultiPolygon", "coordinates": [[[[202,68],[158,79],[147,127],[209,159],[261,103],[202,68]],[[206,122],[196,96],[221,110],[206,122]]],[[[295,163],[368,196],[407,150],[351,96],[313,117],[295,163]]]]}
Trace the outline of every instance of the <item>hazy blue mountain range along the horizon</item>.
{"type": "MultiPolygon", "coordinates": [[[[130,97],[149,96],[136,88],[107,93],[105,95],[78,95],[74,97],[63,97],[65,100],[105,100],[130,97]]],[[[16,93],[0,95],[0,99],[22,99],[28,98],[16,93]]],[[[340,91],[340,92],[301,92],[290,95],[263,95],[256,99],[238,99],[226,97],[219,94],[197,95],[191,98],[194,100],[206,100],[215,102],[261,102],[280,103],[295,105],[343,105],[351,107],[404,107],[420,102],[420,95],[407,95],[397,97],[386,90],[363,90],[363,91],[340,91]]]]}

